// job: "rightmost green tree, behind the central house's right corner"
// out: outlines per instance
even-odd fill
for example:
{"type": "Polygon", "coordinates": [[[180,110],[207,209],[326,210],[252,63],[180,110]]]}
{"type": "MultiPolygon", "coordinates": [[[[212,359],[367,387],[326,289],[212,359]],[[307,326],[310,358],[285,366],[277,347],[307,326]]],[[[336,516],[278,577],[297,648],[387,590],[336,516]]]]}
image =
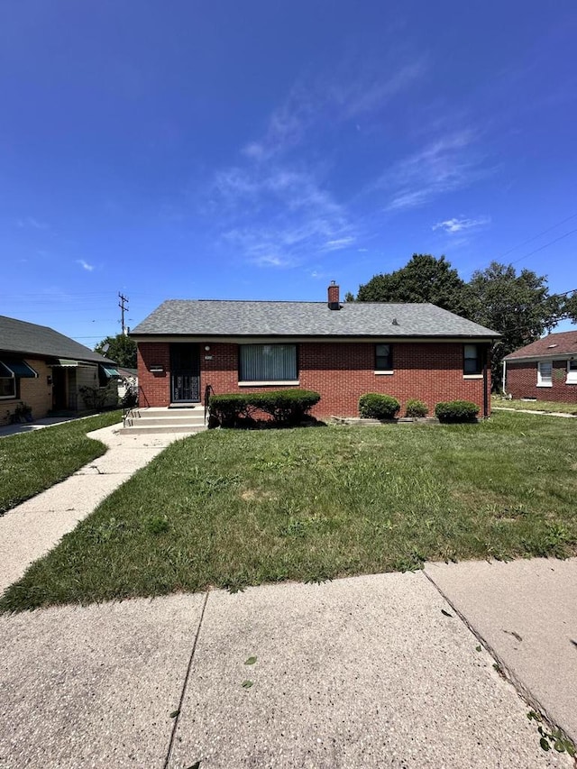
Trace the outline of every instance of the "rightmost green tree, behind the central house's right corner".
{"type": "Polygon", "coordinates": [[[545,275],[492,261],[469,283],[473,297],[472,320],[502,334],[491,354],[493,388],[502,386],[505,355],[535,342],[550,332],[563,311],[561,298],[549,296],[545,275]]]}

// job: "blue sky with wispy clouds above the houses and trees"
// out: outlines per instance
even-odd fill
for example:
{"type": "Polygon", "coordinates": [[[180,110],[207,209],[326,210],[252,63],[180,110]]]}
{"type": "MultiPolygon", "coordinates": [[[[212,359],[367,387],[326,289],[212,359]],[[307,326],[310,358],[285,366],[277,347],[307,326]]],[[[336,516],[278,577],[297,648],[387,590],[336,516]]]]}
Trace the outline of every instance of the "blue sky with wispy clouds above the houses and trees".
{"type": "Polygon", "coordinates": [[[0,314],[93,347],[118,291],[134,326],[414,252],[577,288],[575,40],[574,0],[5,3],[0,314]]]}

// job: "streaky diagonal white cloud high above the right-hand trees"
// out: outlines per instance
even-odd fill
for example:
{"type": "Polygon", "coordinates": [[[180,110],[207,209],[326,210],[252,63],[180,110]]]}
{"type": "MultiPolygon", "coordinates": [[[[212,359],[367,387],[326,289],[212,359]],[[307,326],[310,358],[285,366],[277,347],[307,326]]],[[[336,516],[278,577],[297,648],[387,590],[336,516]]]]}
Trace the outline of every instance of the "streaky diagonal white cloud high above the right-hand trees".
{"type": "Polygon", "coordinates": [[[386,210],[399,211],[423,206],[430,200],[470,186],[491,169],[482,165],[474,150],[472,131],[450,133],[400,160],[383,174],[376,187],[389,191],[386,210]]]}

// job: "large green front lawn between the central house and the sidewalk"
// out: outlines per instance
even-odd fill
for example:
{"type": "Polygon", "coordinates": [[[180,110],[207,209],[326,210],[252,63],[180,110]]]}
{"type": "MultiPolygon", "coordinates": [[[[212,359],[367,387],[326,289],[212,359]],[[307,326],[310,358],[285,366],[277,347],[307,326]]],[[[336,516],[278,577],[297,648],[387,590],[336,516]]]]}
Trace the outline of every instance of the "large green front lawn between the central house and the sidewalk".
{"type": "Polygon", "coordinates": [[[571,421],[213,431],[169,446],[1,610],[577,552],[571,421]]]}

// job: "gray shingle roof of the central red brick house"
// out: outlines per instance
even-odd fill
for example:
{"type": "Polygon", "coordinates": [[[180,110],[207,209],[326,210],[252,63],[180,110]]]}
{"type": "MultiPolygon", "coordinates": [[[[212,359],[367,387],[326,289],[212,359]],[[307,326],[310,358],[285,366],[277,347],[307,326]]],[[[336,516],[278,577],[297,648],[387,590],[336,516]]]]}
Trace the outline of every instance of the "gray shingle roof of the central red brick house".
{"type": "Polygon", "coordinates": [[[431,304],[353,302],[331,310],[325,302],[251,302],[169,299],[132,335],[192,336],[499,336],[431,304]]]}

